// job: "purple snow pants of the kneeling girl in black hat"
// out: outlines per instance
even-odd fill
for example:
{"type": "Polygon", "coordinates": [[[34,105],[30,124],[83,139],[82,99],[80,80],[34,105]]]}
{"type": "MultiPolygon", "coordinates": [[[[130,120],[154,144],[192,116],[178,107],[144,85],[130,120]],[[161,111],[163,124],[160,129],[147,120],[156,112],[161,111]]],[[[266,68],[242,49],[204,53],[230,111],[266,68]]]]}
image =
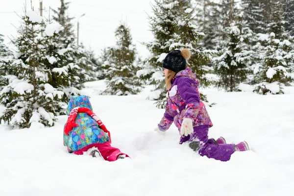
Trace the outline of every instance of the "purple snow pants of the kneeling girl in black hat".
{"type": "Polygon", "coordinates": [[[180,138],[180,144],[184,142],[192,142],[194,140],[200,141],[199,154],[201,156],[207,156],[220,161],[228,161],[231,155],[235,152],[235,145],[233,144],[217,144],[216,141],[211,138],[208,139],[209,125],[200,125],[194,127],[194,132],[191,135],[180,138]]]}

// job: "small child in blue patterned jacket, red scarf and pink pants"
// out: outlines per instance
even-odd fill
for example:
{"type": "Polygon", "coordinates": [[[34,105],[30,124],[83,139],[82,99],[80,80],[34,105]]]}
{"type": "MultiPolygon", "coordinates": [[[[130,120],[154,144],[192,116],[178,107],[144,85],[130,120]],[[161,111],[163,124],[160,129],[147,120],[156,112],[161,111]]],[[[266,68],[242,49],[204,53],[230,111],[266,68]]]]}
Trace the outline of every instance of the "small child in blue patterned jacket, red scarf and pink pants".
{"type": "Polygon", "coordinates": [[[70,153],[86,153],[106,161],[128,157],[120,149],[111,146],[110,132],[93,112],[87,96],[73,96],[67,107],[67,115],[63,141],[70,153]]]}

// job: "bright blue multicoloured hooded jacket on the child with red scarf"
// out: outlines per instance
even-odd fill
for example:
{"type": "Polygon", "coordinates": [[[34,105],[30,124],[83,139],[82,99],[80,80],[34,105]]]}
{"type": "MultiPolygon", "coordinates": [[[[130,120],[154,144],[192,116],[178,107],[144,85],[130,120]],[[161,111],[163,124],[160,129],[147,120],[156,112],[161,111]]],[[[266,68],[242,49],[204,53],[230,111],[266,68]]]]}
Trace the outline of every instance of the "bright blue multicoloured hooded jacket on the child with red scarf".
{"type": "MultiPolygon", "coordinates": [[[[73,108],[83,107],[93,111],[90,100],[87,96],[73,96],[67,107],[67,115],[71,113],[73,108]]],[[[109,136],[99,127],[87,113],[77,113],[75,123],[78,125],[66,135],[63,135],[64,146],[68,147],[69,152],[77,151],[91,144],[102,144],[109,142],[109,136]]]]}

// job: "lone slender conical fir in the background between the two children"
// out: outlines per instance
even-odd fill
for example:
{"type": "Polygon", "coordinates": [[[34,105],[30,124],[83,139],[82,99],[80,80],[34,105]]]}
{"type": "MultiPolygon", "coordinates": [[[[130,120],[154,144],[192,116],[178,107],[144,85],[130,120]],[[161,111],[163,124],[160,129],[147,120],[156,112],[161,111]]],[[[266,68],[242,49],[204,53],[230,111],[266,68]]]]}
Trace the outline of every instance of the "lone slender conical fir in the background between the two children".
{"type": "Polygon", "coordinates": [[[132,44],[130,29],[121,24],[116,32],[116,46],[110,49],[109,69],[106,74],[107,90],[105,94],[130,95],[140,92],[140,83],[136,79],[136,49],[132,44]]]}

